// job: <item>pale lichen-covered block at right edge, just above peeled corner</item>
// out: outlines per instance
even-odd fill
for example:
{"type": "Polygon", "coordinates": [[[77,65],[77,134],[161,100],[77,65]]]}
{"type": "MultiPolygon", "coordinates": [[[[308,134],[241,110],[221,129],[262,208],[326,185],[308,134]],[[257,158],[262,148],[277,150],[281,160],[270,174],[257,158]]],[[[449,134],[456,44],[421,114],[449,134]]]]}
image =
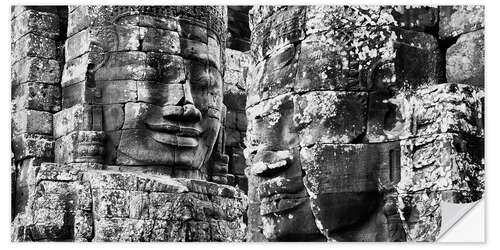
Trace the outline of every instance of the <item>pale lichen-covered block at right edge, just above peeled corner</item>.
{"type": "Polygon", "coordinates": [[[401,193],[420,190],[463,192],[463,200],[481,198],[484,190],[482,139],[445,133],[401,141],[401,193]]]}

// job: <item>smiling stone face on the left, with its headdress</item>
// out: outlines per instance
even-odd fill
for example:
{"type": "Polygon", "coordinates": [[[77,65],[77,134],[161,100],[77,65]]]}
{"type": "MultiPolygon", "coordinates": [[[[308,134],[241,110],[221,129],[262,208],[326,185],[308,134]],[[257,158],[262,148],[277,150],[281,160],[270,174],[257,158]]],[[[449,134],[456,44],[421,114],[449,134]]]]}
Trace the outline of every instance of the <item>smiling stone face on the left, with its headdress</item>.
{"type": "Polygon", "coordinates": [[[124,15],[90,36],[106,52],[92,76],[106,163],[206,173],[223,110],[215,32],[183,18],[124,15]]]}

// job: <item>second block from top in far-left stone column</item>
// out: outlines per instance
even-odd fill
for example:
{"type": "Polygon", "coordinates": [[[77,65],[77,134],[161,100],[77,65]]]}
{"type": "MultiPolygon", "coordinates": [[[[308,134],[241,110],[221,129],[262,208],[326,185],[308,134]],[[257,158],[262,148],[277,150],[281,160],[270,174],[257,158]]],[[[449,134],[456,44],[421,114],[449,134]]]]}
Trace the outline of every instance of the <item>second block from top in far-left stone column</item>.
{"type": "Polygon", "coordinates": [[[29,33],[14,42],[11,49],[11,63],[24,57],[55,59],[56,42],[50,38],[29,33]]]}

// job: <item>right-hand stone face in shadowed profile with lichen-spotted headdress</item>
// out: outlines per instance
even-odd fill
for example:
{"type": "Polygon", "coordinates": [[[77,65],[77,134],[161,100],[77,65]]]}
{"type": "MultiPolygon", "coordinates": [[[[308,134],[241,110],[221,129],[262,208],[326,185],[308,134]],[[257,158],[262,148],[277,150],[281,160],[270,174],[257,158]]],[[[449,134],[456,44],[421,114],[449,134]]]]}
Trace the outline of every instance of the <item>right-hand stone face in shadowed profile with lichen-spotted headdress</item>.
{"type": "Polygon", "coordinates": [[[373,223],[377,185],[387,181],[389,160],[363,140],[369,89],[392,79],[390,67],[377,65],[394,56],[393,36],[388,25],[353,23],[356,28],[337,32],[339,23],[354,22],[350,16],[344,7],[290,7],[252,30],[277,33],[253,41],[256,63],[247,79],[248,174],[254,178],[249,196],[256,187],[251,202],[260,203],[263,234],[270,240],[379,237],[370,233],[381,224],[373,223]],[[361,53],[362,47],[370,54],[361,53]]]}

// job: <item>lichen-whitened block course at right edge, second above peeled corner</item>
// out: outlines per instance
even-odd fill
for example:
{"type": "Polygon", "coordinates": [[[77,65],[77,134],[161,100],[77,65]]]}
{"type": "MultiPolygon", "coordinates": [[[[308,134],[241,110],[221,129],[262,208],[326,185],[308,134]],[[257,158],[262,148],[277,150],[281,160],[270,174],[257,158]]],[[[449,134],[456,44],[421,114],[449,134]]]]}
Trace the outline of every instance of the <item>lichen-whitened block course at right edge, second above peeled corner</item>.
{"type": "Polygon", "coordinates": [[[415,92],[370,93],[369,142],[436,133],[484,134],[482,90],[464,84],[423,86],[415,92]]]}

